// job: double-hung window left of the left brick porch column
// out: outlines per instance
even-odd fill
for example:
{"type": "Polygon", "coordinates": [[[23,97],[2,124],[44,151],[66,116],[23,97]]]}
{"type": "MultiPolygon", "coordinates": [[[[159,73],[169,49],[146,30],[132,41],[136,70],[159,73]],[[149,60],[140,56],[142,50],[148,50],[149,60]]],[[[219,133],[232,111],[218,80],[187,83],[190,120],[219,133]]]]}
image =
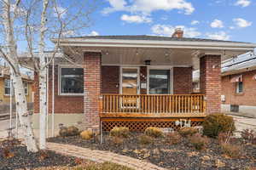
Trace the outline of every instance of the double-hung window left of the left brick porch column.
{"type": "Polygon", "coordinates": [[[84,69],[60,67],[60,94],[84,94],[84,69]]]}

